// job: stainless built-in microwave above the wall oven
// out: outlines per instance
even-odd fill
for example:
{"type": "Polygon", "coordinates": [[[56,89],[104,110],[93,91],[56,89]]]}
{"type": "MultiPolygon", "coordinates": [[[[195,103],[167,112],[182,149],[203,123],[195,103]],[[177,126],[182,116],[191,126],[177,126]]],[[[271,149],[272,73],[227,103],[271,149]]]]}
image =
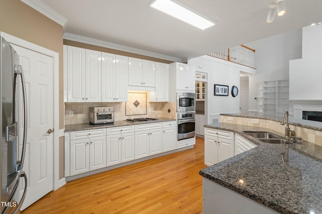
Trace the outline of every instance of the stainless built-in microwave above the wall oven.
{"type": "Polygon", "coordinates": [[[196,93],[177,92],[177,112],[195,112],[196,93]]]}

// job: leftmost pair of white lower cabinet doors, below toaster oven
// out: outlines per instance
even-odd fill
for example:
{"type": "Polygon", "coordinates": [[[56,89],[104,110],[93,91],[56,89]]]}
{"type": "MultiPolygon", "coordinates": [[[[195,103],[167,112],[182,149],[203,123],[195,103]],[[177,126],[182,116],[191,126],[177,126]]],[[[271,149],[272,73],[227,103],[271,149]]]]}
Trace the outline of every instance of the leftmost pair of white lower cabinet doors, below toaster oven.
{"type": "Polygon", "coordinates": [[[70,175],[106,167],[106,136],[70,141],[70,175]]]}

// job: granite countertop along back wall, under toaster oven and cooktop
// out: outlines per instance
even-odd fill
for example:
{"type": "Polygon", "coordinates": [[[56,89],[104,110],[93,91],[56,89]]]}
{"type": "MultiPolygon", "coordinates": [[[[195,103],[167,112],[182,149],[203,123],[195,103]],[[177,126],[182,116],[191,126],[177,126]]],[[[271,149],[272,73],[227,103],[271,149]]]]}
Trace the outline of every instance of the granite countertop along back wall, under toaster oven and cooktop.
{"type": "Polygon", "coordinates": [[[92,124],[73,124],[73,125],[65,125],[65,132],[74,132],[74,131],[82,131],[82,130],[90,130],[90,129],[104,129],[104,128],[112,128],[118,126],[133,126],[137,124],[146,124],[146,123],[160,123],[160,122],[167,122],[167,121],[176,121],[176,119],[170,118],[157,118],[158,121],[148,121],[148,122],[138,122],[138,123],[131,123],[127,121],[114,121],[112,124],[99,124],[99,125],[92,125],[92,124]]]}

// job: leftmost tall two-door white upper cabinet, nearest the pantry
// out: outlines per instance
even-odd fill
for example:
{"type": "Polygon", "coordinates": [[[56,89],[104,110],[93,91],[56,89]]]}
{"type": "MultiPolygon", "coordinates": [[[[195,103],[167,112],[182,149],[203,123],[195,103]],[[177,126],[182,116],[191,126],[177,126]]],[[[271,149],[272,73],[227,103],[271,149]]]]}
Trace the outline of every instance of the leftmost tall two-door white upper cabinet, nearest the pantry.
{"type": "Polygon", "coordinates": [[[67,46],[67,102],[101,101],[101,52],[67,46]]]}

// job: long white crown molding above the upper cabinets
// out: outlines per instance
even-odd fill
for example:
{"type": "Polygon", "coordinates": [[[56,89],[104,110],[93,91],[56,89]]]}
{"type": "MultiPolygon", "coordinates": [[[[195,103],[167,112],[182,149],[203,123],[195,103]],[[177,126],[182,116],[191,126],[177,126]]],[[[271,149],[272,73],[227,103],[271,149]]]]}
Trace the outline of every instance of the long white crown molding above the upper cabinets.
{"type": "Polygon", "coordinates": [[[78,36],[78,35],[70,34],[70,33],[64,33],[64,39],[71,40],[74,42],[82,42],[82,43],[86,43],[86,44],[90,44],[90,45],[96,45],[96,46],[105,47],[105,48],[111,48],[114,50],[125,51],[125,52],[129,52],[129,53],[134,53],[134,54],[140,54],[143,56],[149,56],[149,57],[154,57],[154,58],[158,58],[158,59],[169,60],[169,61],[173,61],[173,62],[185,62],[185,60],[181,59],[181,58],[158,54],[158,53],[154,53],[154,52],[150,52],[150,51],[144,51],[144,50],[137,49],[137,48],[131,48],[131,47],[124,46],[124,45],[118,45],[118,44],[114,44],[111,42],[105,42],[102,40],[92,39],[92,38],[88,38],[88,37],[84,37],[84,36],[78,36]]]}

